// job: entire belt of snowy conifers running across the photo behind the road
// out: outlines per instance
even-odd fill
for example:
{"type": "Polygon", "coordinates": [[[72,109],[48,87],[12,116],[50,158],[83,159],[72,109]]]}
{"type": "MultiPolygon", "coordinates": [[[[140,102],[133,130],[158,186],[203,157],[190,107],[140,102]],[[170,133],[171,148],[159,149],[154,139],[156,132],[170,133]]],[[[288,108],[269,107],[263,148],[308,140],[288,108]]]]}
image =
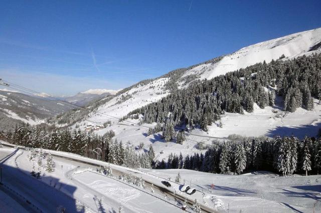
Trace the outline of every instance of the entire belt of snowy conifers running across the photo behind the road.
{"type": "Polygon", "coordinates": [[[111,139],[113,131],[97,136],[68,129],[48,132],[43,127],[24,124],[17,126],[14,132],[2,132],[0,136],[17,145],[68,151],[133,168],[185,168],[222,174],[268,170],[283,175],[293,172],[318,174],[321,169],[321,137],[217,142],[208,145],[204,154],[185,157],[182,153],[170,154],[167,161],[158,161],[151,145],[148,149],[143,149],[144,144],[139,145],[136,148],[143,151],[136,154],[132,147],[123,148],[121,141],[111,139]]]}

